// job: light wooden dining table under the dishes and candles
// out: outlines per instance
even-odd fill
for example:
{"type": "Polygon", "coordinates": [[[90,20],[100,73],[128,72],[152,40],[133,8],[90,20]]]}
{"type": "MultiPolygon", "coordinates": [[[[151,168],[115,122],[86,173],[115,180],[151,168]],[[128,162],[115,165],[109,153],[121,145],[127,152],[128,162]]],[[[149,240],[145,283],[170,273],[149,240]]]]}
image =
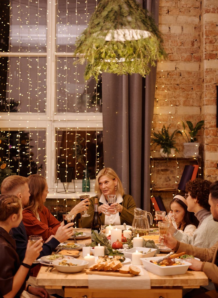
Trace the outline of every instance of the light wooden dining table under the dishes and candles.
{"type": "MultiPolygon", "coordinates": [[[[90,233],[90,229],[80,229],[80,231],[90,233]]],[[[90,243],[91,238],[78,240],[78,244],[90,243]]],[[[164,255],[164,254],[158,254],[164,255]]],[[[83,259],[82,252],[79,256],[83,259]]],[[[112,284],[105,288],[89,288],[89,274],[86,270],[79,273],[62,273],[53,269],[46,272],[47,266],[42,266],[37,275],[37,285],[45,288],[64,289],[65,297],[72,298],[181,298],[183,288],[199,288],[201,285],[208,285],[208,278],[202,271],[186,271],[186,274],[159,276],[148,271],[150,277],[150,289],[127,288],[113,289],[112,284]]],[[[98,275],[92,275],[98,281],[98,275]]],[[[117,279],[117,277],[114,277],[117,279]]],[[[138,278],[137,276],[132,277],[138,278]]],[[[111,277],[110,277],[111,280],[111,277]]],[[[133,282],[134,283],[134,282],[133,282]]]]}

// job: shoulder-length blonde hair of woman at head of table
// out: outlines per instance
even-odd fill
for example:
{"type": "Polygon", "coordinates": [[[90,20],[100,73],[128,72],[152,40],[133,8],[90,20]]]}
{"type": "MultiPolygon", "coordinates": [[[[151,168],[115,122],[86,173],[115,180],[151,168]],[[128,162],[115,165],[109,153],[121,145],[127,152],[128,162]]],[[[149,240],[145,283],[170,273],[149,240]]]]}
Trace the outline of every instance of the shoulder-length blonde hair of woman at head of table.
{"type": "Polygon", "coordinates": [[[124,195],[124,189],[123,189],[123,185],[120,181],[120,178],[117,176],[117,173],[112,169],[112,168],[103,168],[97,175],[96,179],[95,179],[95,193],[97,193],[99,196],[101,196],[102,192],[100,190],[99,187],[99,183],[98,180],[102,177],[102,176],[107,176],[108,178],[115,180],[117,178],[117,190],[116,193],[119,193],[121,196],[124,195]]]}

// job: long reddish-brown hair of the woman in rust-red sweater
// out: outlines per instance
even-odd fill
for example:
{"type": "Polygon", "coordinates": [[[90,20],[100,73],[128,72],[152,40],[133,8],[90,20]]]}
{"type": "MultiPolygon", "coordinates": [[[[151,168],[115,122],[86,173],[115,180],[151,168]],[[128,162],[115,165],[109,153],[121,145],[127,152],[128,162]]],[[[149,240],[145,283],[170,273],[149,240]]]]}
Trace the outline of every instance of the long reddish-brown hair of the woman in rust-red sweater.
{"type": "Polygon", "coordinates": [[[37,210],[42,211],[44,206],[42,194],[46,187],[46,179],[43,176],[33,174],[30,175],[27,180],[30,197],[29,205],[25,209],[32,210],[32,212],[36,214],[37,210]]]}

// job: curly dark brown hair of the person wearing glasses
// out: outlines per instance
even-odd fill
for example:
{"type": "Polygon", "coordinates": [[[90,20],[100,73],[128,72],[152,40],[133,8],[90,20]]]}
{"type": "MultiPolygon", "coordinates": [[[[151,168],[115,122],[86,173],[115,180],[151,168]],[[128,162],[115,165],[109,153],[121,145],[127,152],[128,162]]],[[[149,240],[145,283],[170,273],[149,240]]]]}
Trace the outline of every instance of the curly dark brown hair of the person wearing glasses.
{"type": "Polygon", "coordinates": [[[197,198],[197,203],[208,211],[210,211],[208,199],[210,193],[209,187],[211,183],[211,181],[200,178],[197,178],[193,181],[188,181],[186,183],[186,193],[189,192],[192,198],[197,198]]]}

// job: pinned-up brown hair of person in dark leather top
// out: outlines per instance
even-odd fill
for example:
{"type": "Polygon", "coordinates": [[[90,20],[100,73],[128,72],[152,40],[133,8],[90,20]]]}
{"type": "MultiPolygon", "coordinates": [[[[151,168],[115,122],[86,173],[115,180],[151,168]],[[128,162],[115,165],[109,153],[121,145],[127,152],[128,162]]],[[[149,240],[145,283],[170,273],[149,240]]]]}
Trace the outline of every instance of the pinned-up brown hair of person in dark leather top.
{"type": "Polygon", "coordinates": [[[0,221],[6,221],[12,214],[18,214],[21,208],[21,200],[16,195],[0,195],[0,221]]]}

